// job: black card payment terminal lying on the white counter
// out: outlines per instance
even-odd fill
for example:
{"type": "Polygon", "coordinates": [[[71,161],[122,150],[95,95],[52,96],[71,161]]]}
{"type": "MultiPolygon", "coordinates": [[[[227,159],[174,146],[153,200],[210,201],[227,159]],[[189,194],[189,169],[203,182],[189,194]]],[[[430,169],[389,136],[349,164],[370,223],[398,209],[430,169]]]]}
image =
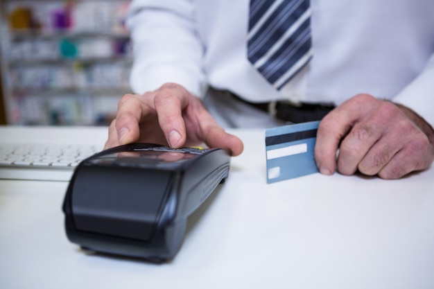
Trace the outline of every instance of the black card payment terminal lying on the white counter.
{"type": "Polygon", "coordinates": [[[196,211],[229,173],[220,148],[132,143],[74,170],[64,198],[67,237],[85,249],[162,262],[173,259],[196,211]]]}

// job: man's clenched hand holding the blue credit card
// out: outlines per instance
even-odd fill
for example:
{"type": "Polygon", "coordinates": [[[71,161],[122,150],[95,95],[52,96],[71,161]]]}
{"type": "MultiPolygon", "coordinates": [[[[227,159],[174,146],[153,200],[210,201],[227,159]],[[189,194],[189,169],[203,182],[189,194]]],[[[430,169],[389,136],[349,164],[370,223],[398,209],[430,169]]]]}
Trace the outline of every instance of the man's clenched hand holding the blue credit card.
{"type": "Polygon", "coordinates": [[[407,107],[359,94],[322,119],[315,160],[326,175],[337,166],[343,175],[397,179],[431,166],[434,130],[407,107]]]}

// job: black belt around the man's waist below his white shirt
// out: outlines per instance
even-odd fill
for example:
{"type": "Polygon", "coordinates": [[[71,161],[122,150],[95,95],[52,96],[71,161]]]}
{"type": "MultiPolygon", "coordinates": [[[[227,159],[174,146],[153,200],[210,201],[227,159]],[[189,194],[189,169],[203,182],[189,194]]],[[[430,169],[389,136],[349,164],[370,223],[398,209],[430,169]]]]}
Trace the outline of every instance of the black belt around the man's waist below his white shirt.
{"type": "Polygon", "coordinates": [[[306,121],[320,121],[326,114],[331,112],[336,106],[330,104],[317,103],[293,103],[290,100],[277,100],[270,103],[250,103],[243,98],[231,95],[241,103],[248,104],[252,107],[267,112],[281,121],[291,123],[304,123],[306,121]]]}

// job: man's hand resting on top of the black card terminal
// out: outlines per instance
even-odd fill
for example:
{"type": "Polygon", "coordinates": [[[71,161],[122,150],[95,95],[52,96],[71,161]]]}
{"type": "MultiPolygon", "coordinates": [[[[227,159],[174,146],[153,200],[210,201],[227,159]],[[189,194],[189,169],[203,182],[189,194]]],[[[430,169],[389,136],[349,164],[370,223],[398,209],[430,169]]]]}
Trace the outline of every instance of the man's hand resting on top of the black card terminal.
{"type": "Polygon", "coordinates": [[[196,96],[173,83],[144,95],[121,98],[105,148],[133,142],[171,148],[205,143],[210,148],[225,148],[234,156],[243,151],[241,140],[227,134],[196,96]]]}

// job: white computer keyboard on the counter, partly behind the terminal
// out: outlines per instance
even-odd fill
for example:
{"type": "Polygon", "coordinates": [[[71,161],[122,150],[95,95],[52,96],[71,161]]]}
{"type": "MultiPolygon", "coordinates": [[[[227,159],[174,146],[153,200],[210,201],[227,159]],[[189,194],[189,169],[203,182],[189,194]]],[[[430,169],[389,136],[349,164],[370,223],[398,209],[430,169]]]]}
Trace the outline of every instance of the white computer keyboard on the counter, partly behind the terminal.
{"type": "Polygon", "coordinates": [[[80,161],[101,150],[83,144],[0,143],[0,179],[69,181],[80,161]]]}

